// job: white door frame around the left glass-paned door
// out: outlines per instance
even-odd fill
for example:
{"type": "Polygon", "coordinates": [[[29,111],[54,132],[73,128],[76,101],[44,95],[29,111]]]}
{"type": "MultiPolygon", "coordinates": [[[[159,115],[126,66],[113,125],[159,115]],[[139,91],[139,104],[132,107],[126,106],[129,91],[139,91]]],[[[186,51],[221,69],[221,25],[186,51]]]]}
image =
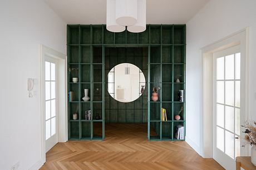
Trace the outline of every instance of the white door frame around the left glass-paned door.
{"type": "Polygon", "coordinates": [[[41,159],[46,162],[45,140],[45,58],[57,60],[56,75],[58,89],[56,101],[58,107],[58,142],[67,141],[67,56],[50,47],[40,44],[40,114],[41,114],[41,159]]]}

